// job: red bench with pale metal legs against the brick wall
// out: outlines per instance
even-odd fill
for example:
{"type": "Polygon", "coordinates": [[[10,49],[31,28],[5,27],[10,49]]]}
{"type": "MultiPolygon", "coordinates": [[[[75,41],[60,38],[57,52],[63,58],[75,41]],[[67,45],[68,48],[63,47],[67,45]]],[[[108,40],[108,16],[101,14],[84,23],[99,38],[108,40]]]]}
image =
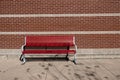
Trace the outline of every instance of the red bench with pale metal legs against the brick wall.
{"type": "Polygon", "coordinates": [[[73,62],[76,63],[76,51],[74,36],[26,36],[20,60],[25,63],[25,55],[28,54],[65,54],[66,58],[73,54],[73,62]]]}

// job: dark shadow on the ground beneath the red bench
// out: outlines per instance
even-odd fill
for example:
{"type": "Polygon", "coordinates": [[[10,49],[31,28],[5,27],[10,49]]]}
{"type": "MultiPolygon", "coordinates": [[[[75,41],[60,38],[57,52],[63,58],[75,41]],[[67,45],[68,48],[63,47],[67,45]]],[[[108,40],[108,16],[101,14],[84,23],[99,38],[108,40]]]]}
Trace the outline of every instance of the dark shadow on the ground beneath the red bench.
{"type": "Polygon", "coordinates": [[[34,61],[69,61],[68,58],[61,58],[61,57],[56,57],[56,58],[51,58],[51,57],[47,57],[47,58],[26,58],[27,62],[34,62],[34,61]]]}

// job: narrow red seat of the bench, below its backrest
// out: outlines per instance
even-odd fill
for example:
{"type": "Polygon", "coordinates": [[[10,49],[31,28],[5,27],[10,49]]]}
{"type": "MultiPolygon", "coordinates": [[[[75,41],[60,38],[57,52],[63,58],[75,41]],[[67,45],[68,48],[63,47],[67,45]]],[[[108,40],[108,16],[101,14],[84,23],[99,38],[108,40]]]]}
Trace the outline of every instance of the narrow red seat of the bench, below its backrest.
{"type": "Polygon", "coordinates": [[[24,50],[23,54],[75,54],[75,50],[24,50]]]}

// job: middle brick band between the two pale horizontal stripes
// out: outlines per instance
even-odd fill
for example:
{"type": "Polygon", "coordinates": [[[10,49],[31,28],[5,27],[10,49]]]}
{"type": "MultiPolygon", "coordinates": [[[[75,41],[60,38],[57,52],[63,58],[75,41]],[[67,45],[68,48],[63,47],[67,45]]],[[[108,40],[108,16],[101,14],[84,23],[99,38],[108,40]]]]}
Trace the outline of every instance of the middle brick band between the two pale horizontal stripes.
{"type": "Polygon", "coordinates": [[[0,31],[119,31],[120,16],[0,18],[0,31]]]}

